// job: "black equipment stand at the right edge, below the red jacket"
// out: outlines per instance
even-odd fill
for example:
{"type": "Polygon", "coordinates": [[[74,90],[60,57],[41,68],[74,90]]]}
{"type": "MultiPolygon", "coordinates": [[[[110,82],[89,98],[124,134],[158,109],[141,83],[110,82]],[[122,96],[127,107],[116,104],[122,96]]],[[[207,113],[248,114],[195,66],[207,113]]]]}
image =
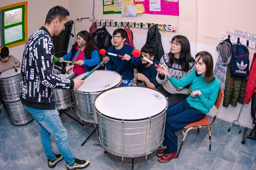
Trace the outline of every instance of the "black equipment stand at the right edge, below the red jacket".
{"type": "Polygon", "coordinates": [[[253,140],[256,140],[256,117],[255,117],[255,112],[256,112],[256,93],[254,93],[252,95],[252,103],[251,103],[251,116],[253,118],[252,120],[252,124],[254,124],[254,127],[251,131],[251,133],[249,135],[247,135],[247,131],[248,131],[248,128],[244,128],[244,134],[243,134],[243,139],[242,139],[242,144],[245,144],[245,140],[246,138],[249,138],[249,139],[253,139],[253,140]],[[254,136],[252,136],[252,133],[254,132],[254,136]]]}

